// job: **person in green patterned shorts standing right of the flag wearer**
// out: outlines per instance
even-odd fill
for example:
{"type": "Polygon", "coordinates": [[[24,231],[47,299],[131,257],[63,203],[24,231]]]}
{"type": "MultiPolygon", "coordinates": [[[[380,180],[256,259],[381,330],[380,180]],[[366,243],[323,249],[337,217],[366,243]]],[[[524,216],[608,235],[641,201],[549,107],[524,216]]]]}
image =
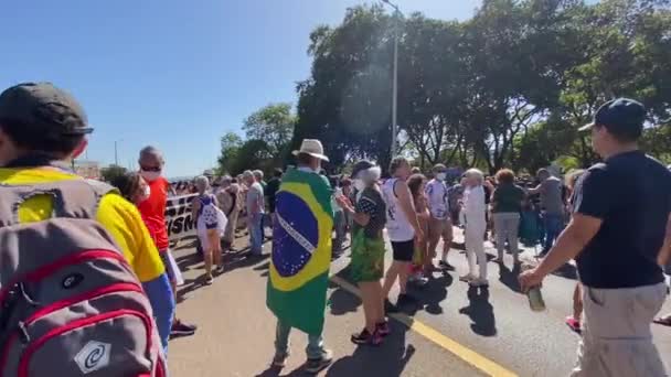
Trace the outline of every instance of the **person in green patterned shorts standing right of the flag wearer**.
{"type": "Polygon", "coordinates": [[[384,295],[380,280],[384,276],[384,237],[382,230],[386,223],[386,205],[380,192],[380,166],[369,161],[359,161],[352,171],[356,186],[354,206],[342,194],[336,200],[339,205],[353,215],[352,261],[350,273],[362,293],[365,327],[352,335],[354,344],[380,345],[383,336],[390,333],[384,319],[384,295]]]}

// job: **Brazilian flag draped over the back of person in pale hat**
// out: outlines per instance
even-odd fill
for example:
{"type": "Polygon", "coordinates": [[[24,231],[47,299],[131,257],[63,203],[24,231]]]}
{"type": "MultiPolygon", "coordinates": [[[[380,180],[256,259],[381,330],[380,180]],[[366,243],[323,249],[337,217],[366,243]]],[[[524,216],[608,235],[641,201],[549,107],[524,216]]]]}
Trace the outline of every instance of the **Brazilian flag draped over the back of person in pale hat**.
{"type": "Polygon", "coordinates": [[[308,334],[323,328],[332,229],[329,181],[287,171],[276,195],[266,304],[279,321],[308,334]]]}

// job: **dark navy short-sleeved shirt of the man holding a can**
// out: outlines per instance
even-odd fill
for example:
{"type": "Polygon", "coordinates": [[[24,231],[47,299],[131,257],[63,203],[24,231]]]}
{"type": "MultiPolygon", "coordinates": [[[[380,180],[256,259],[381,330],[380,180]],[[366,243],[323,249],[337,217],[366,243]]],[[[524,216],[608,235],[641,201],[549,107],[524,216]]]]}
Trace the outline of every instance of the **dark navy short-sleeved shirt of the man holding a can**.
{"type": "Polygon", "coordinates": [[[576,258],[593,288],[633,288],[664,281],[657,256],[671,212],[671,172],[640,151],[614,155],[583,174],[574,212],[603,220],[576,258]]]}

